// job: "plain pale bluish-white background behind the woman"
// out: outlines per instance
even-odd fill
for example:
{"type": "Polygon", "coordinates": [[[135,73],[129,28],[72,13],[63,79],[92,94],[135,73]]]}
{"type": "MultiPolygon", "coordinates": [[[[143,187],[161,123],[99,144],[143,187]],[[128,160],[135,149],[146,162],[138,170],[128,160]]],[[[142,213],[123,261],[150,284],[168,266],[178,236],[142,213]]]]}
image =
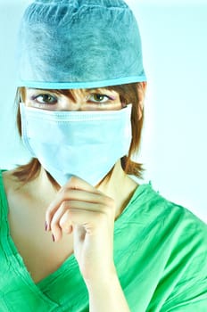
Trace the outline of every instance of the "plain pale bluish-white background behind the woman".
{"type": "MultiPolygon", "coordinates": [[[[145,183],[207,222],[207,2],[128,0],[143,41],[148,90],[137,160],[145,183]]],[[[14,46],[29,1],[0,0],[0,168],[29,159],[15,127],[14,46]]]]}

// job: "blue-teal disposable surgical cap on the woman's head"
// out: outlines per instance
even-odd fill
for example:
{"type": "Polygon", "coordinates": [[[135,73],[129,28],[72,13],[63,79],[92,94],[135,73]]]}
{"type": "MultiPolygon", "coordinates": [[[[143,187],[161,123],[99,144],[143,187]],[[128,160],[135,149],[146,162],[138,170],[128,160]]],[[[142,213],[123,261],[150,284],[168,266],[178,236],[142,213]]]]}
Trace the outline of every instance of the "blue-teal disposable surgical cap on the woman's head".
{"type": "Polygon", "coordinates": [[[146,80],[137,20],[122,0],[29,4],[17,61],[17,86],[93,88],[146,80]]]}

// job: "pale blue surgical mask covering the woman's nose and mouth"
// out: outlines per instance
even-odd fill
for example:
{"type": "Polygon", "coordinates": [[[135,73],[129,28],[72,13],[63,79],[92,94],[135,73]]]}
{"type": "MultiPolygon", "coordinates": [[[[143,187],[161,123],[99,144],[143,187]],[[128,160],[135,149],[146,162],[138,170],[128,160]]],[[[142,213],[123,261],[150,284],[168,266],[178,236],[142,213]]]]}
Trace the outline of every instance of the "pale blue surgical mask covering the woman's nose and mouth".
{"type": "Polygon", "coordinates": [[[22,140],[59,185],[76,176],[97,185],[131,143],[131,108],[46,111],[21,106],[22,140]]]}

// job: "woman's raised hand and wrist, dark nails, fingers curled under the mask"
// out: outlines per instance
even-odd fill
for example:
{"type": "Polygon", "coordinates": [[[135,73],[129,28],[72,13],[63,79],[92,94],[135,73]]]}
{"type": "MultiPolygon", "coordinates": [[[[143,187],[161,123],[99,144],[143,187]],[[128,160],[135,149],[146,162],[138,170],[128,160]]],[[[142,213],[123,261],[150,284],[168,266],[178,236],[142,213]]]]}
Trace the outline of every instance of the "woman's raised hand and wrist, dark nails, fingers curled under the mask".
{"type": "Polygon", "coordinates": [[[115,202],[79,177],[71,177],[46,210],[47,230],[55,242],[73,232],[74,255],[85,282],[115,274],[113,230],[115,202]]]}

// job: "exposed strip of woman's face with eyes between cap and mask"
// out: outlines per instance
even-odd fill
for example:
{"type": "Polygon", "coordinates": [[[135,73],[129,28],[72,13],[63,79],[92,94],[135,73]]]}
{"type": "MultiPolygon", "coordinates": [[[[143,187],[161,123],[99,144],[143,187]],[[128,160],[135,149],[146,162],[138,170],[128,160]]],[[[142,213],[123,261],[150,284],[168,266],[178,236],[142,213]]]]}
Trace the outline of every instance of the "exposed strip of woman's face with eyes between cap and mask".
{"type": "Polygon", "coordinates": [[[69,94],[26,88],[25,105],[47,111],[118,111],[120,94],[107,88],[70,90],[69,94]]]}

